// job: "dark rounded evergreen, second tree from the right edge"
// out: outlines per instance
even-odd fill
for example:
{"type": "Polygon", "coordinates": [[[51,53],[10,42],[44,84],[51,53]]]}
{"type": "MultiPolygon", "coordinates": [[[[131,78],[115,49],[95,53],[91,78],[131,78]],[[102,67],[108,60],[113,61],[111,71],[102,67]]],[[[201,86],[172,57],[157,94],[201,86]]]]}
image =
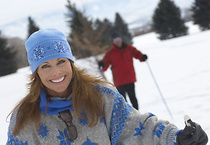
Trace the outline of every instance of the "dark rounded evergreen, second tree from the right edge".
{"type": "Polygon", "coordinates": [[[171,0],[160,0],[152,19],[154,31],[161,40],[187,35],[180,9],[171,0]]]}

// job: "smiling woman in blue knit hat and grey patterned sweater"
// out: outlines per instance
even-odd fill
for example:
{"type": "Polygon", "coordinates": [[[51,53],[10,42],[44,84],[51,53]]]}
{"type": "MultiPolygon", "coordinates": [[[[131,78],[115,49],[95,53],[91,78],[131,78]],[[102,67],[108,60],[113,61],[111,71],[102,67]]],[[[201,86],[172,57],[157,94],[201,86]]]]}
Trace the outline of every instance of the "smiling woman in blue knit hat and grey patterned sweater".
{"type": "Polygon", "coordinates": [[[108,82],[74,65],[63,33],[43,29],[26,42],[29,93],[12,111],[7,144],[205,145],[201,127],[179,130],[151,113],[140,114],[108,82]]]}

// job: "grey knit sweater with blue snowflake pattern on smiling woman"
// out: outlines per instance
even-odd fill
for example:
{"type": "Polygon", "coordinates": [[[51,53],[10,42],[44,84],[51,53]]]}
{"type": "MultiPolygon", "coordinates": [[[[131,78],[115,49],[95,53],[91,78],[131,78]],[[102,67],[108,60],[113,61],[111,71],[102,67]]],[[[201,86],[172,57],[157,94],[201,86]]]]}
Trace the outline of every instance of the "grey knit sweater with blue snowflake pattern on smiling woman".
{"type": "Polygon", "coordinates": [[[66,125],[58,117],[41,112],[41,125],[36,129],[28,122],[17,136],[12,132],[16,112],[11,117],[7,145],[176,145],[180,132],[168,121],[158,120],[151,113],[140,114],[125,102],[114,87],[99,87],[103,96],[105,119],[94,127],[71,111],[78,138],[66,138],[66,125]]]}

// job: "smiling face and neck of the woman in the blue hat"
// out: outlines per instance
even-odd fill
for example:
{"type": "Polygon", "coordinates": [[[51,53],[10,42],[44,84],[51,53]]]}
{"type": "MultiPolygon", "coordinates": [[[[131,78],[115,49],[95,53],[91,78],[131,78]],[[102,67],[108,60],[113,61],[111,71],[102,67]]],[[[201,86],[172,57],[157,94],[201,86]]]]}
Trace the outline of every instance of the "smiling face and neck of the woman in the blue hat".
{"type": "Polygon", "coordinates": [[[70,95],[68,86],[72,79],[72,67],[67,58],[52,59],[42,63],[37,73],[52,97],[70,95]]]}

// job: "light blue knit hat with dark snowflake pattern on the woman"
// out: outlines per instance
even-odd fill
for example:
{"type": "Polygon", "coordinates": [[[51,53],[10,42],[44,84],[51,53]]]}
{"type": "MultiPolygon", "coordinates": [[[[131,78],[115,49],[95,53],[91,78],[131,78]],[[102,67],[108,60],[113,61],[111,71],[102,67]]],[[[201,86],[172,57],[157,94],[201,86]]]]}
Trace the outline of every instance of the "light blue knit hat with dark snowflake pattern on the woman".
{"type": "Polygon", "coordinates": [[[74,62],[65,35],[56,29],[42,29],[34,32],[26,41],[25,47],[32,73],[40,64],[51,59],[68,58],[74,62]]]}

